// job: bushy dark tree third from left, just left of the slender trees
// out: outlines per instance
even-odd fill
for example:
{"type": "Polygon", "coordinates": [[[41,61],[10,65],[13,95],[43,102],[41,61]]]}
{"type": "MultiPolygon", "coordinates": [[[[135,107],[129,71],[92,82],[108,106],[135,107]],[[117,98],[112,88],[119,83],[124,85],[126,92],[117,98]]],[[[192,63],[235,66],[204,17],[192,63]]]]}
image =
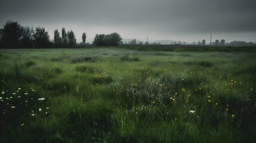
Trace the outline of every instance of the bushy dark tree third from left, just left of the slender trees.
{"type": "Polygon", "coordinates": [[[36,27],[33,38],[35,39],[35,46],[37,48],[49,48],[50,36],[48,35],[48,32],[45,31],[44,27],[36,27]]]}

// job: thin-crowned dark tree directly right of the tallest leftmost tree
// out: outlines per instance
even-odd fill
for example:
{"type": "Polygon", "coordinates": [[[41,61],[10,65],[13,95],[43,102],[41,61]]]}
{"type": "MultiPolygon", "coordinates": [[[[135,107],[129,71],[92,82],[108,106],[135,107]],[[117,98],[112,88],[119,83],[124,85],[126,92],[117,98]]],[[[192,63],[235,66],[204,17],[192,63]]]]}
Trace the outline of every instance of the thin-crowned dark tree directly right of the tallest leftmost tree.
{"type": "Polygon", "coordinates": [[[20,46],[21,48],[33,48],[33,27],[21,27],[21,38],[20,46]]]}

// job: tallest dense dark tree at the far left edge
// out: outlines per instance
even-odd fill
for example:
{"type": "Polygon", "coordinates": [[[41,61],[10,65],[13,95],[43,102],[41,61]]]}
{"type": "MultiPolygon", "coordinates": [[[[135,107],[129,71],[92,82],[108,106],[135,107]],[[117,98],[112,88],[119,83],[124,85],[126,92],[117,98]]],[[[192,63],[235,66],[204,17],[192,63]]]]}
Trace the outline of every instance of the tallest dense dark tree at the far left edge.
{"type": "Polygon", "coordinates": [[[2,44],[5,48],[17,48],[21,36],[21,26],[18,22],[8,20],[2,31],[2,44]]]}

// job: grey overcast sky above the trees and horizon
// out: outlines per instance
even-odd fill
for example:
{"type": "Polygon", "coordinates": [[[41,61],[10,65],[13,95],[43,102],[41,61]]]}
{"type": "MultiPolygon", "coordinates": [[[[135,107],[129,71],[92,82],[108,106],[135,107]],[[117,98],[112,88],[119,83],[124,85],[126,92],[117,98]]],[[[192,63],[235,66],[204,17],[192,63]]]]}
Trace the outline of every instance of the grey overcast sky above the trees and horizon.
{"type": "Polygon", "coordinates": [[[72,29],[78,42],[87,33],[119,33],[146,41],[256,42],[256,0],[0,0],[0,28],[7,20],[22,26],[72,29]]]}

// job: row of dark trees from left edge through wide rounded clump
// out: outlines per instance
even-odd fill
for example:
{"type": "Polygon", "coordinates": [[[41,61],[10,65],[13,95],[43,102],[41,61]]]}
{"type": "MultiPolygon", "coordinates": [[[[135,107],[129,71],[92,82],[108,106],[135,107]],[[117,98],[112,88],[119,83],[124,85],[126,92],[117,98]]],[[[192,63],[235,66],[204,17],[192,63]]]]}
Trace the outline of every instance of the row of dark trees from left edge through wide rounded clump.
{"type": "MultiPolygon", "coordinates": [[[[87,35],[82,34],[80,45],[85,46],[87,35]]],[[[93,44],[97,46],[116,46],[122,42],[118,33],[110,35],[95,35],[93,44]]],[[[61,33],[54,30],[54,39],[50,40],[50,35],[44,27],[21,26],[17,21],[8,20],[4,28],[0,29],[0,48],[76,48],[76,36],[72,30],[63,27],[61,33]],[[61,34],[61,35],[60,35],[61,34]]]]}

